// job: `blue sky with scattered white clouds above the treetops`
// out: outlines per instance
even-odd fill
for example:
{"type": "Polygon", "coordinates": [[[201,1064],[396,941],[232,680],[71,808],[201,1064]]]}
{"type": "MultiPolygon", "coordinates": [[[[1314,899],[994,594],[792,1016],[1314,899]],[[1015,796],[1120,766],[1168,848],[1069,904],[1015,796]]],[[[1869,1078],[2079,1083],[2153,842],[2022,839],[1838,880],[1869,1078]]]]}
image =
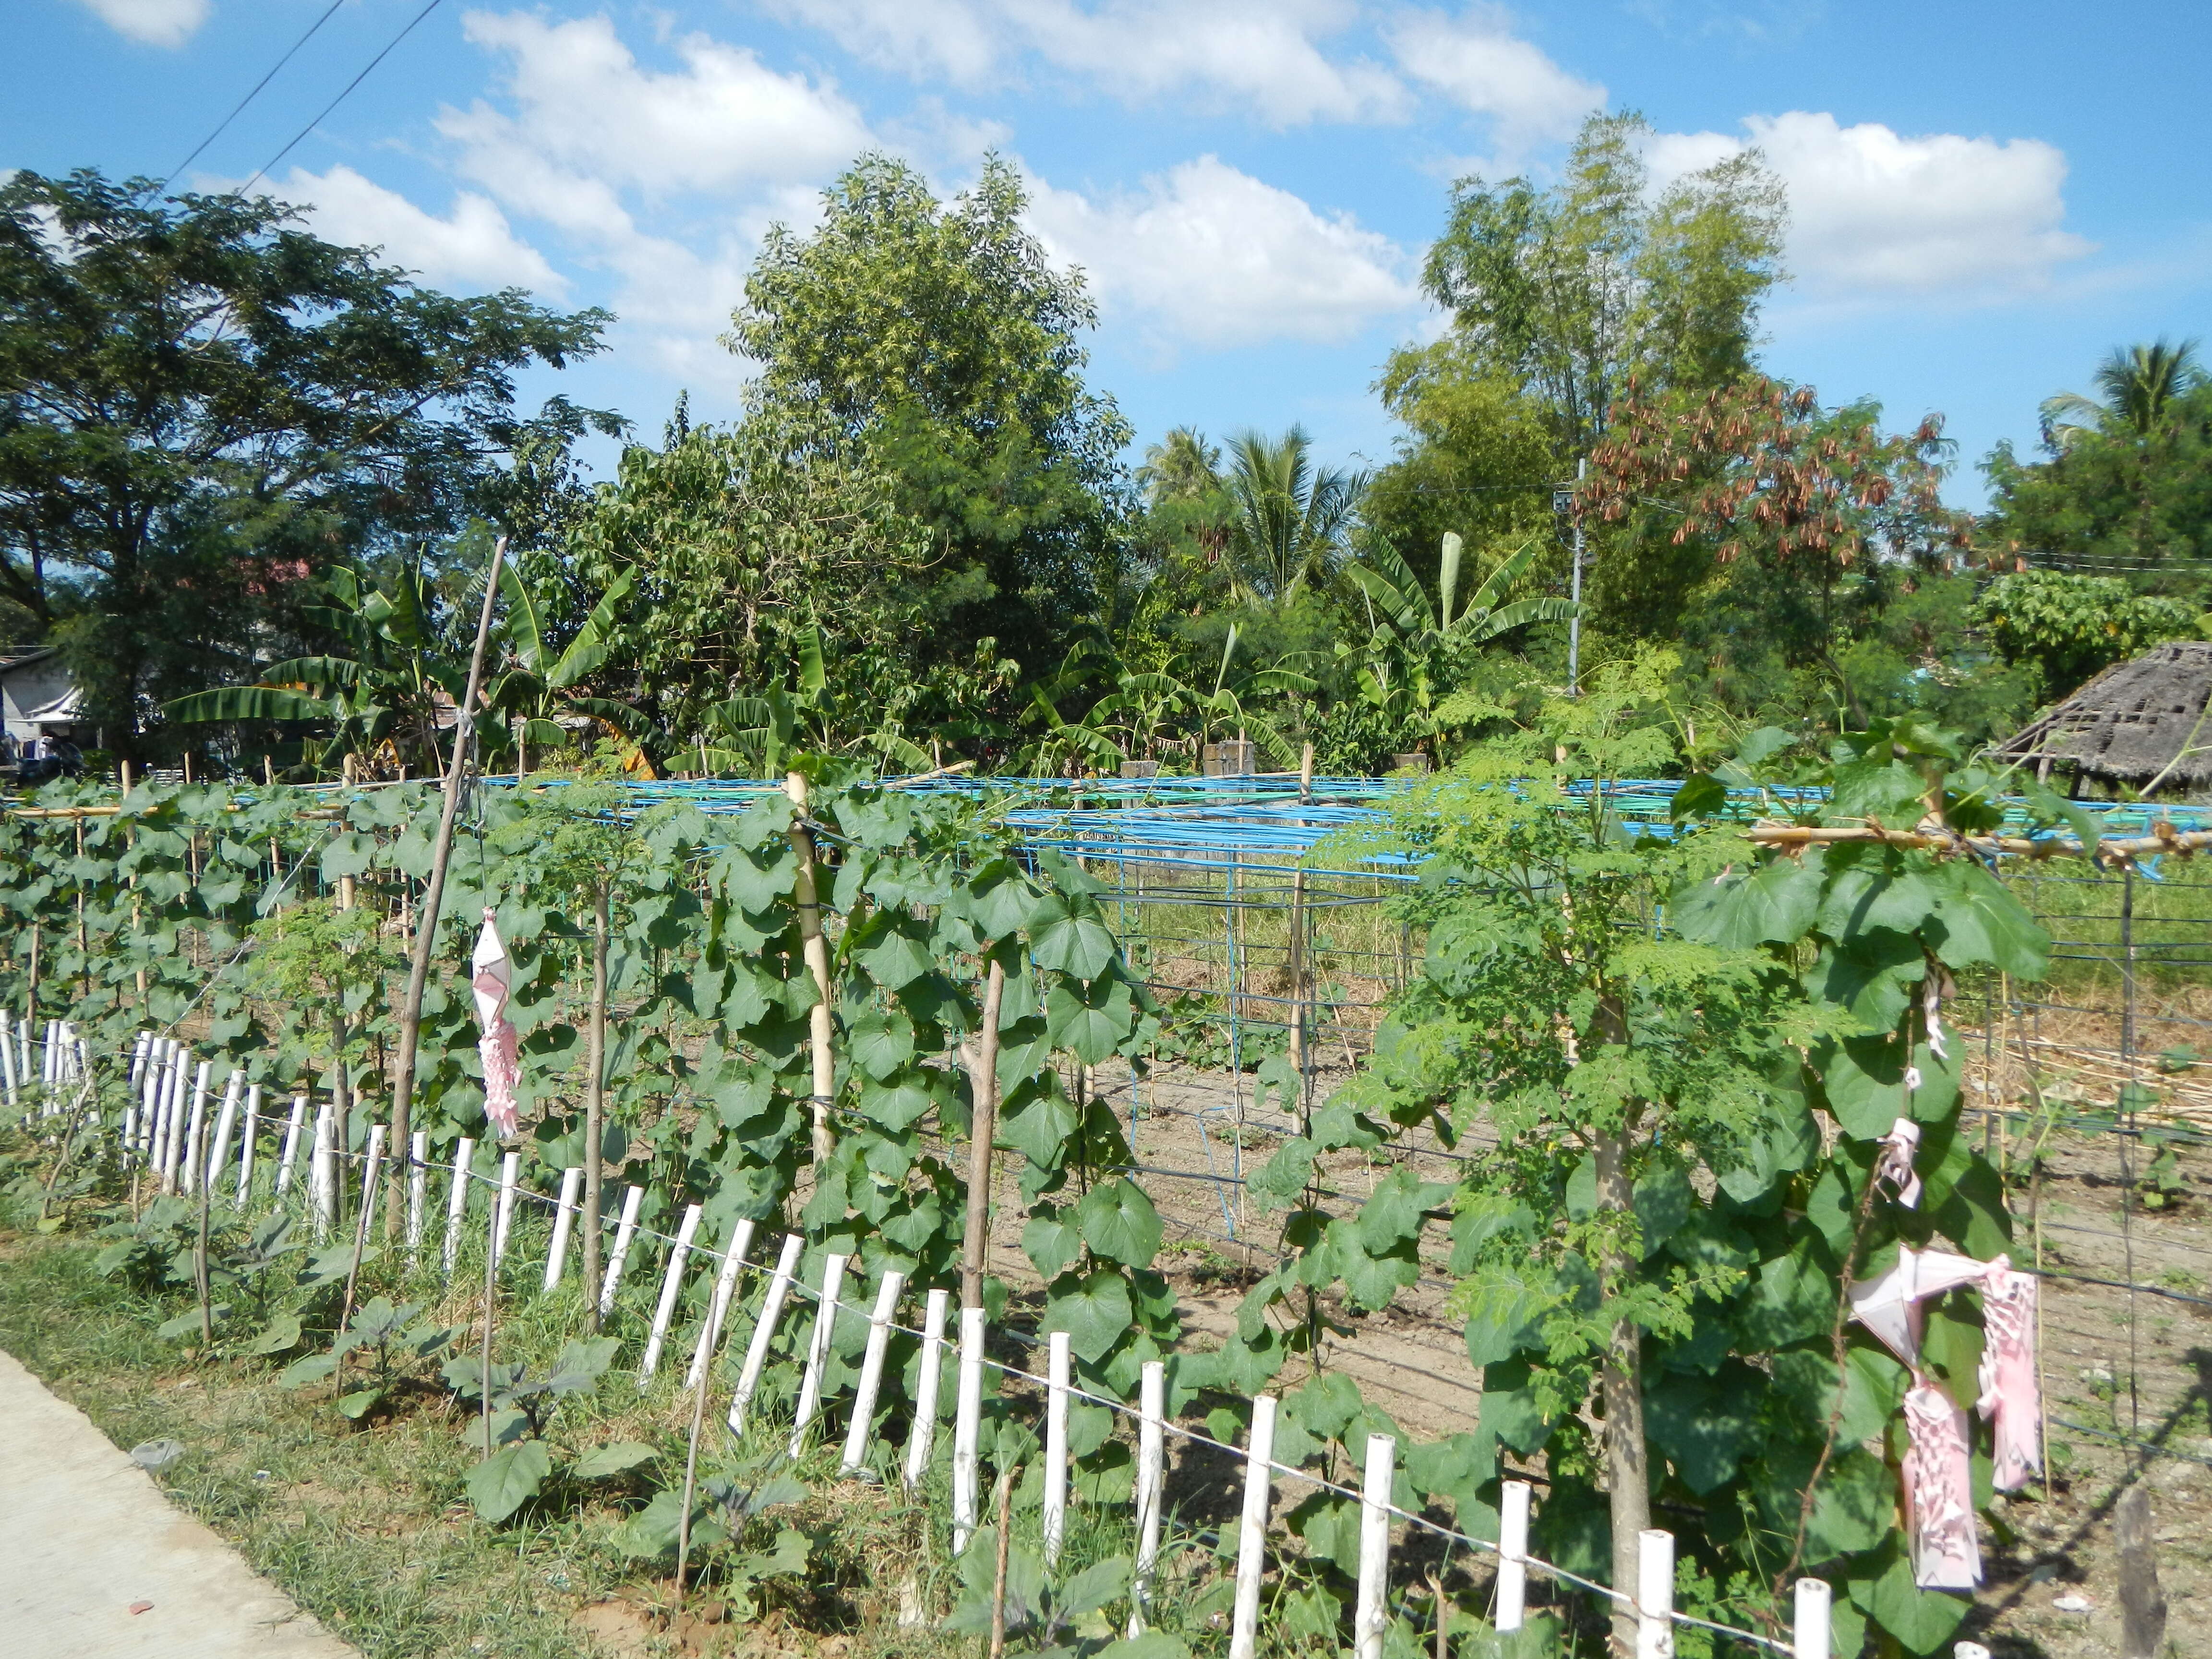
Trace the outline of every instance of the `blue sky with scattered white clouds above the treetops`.
{"type": "MultiPolygon", "coordinates": [[[[168,175],[325,4],[18,0],[0,166],[168,175]]],[[[181,184],[243,181],[420,9],[343,0],[181,184]]],[[[679,387],[734,411],[717,336],[768,223],[867,146],[947,190],[995,148],[1091,274],[1139,442],[1298,420],[1385,460],[1369,387],[1436,327],[1449,181],[1548,177],[1590,108],[1639,108],[1661,175],[1754,142],[1790,188],[1770,372],[1942,411],[1973,504],[2039,398],[2208,332],[2208,60],[2201,4],[442,0],[268,188],[434,285],[611,307],[560,383],[650,436],[679,387]]]]}

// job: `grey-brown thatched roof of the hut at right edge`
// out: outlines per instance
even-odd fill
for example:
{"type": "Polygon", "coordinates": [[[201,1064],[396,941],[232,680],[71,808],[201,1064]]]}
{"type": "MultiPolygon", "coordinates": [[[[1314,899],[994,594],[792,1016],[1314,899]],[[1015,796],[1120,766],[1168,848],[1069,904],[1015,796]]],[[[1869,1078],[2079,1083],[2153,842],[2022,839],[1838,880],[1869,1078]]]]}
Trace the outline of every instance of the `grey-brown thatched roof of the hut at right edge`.
{"type": "Polygon", "coordinates": [[[2177,639],[2112,664],[1997,752],[2048,779],[2157,781],[2159,794],[2212,790],[2212,641],[2177,639]],[[2179,759],[2177,759],[2179,757],[2179,759]]]}

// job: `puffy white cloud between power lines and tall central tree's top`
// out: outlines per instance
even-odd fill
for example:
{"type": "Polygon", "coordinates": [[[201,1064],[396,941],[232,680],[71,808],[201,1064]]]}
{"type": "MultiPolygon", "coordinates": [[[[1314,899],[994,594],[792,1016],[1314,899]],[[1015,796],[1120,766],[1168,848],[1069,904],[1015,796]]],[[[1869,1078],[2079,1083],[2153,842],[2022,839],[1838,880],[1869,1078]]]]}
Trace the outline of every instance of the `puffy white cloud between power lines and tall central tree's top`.
{"type": "Polygon", "coordinates": [[[867,122],[834,88],[779,75],[743,46],[677,42],[684,69],[641,69],[608,18],[546,22],[471,11],[473,44],[509,60],[515,113],[476,104],[438,128],[462,166],[495,190],[526,153],[648,195],[818,179],[869,144],[867,122]]]}

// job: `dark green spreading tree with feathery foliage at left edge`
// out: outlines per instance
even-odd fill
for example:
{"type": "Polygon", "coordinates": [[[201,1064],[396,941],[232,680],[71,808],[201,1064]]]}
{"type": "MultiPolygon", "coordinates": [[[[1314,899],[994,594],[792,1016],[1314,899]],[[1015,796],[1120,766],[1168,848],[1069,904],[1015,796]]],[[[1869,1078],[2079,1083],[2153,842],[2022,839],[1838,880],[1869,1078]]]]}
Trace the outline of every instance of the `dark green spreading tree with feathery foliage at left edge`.
{"type": "Polygon", "coordinates": [[[153,703],[250,672],[310,577],[453,533],[542,422],[515,376],[606,314],[453,299],[268,197],[0,184],[0,595],[64,639],[128,748],[153,703]]]}

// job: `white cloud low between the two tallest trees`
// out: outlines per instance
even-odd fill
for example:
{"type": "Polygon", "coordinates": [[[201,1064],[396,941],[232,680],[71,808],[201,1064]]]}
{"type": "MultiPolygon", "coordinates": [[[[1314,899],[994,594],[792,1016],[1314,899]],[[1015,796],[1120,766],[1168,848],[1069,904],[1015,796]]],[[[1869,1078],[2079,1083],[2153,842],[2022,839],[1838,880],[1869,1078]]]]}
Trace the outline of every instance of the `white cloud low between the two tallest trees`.
{"type": "Polygon", "coordinates": [[[1161,345],[1343,341],[1418,305],[1409,259],[1352,215],[1203,155],[1093,201],[1031,181],[1031,226],[1084,265],[1106,312],[1135,312],[1161,345]]]}

